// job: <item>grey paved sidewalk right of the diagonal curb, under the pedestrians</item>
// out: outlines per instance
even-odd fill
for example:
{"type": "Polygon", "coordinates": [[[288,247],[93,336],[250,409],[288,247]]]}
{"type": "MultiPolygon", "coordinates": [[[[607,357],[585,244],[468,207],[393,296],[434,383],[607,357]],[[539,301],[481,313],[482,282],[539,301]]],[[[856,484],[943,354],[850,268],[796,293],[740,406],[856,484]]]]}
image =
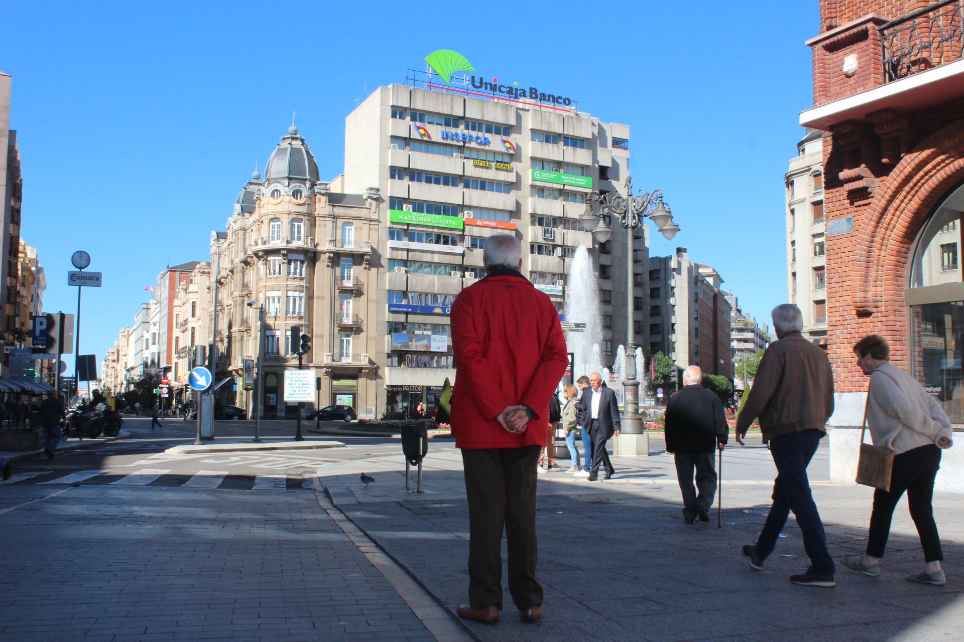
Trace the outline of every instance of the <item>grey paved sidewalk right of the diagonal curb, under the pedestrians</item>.
{"type": "MultiPolygon", "coordinates": [[[[662,452],[614,457],[616,478],[605,482],[541,474],[544,620],[521,624],[506,593],[501,622],[469,623],[472,633],[487,641],[964,639],[964,495],[935,497],[947,586],[904,580],[923,555],[901,501],[879,578],[839,565],[836,588],[803,587],[789,581],[808,564],[792,517],[763,572],[739,552],[756,541],[767,512],[775,471],[766,449],[726,450],[720,528],[715,510],[710,524],[683,523],[672,461],[662,452]]],[[[831,553],[863,552],[872,489],[826,481],[825,445],[811,473],[831,553]]],[[[402,490],[404,465],[392,457],[327,464],[319,475],[345,514],[450,612],[466,601],[469,524],[457,450],[432,446],[421,495],[402,490]],[[359,482],[362,466],[375,482],[359,482]]]]}

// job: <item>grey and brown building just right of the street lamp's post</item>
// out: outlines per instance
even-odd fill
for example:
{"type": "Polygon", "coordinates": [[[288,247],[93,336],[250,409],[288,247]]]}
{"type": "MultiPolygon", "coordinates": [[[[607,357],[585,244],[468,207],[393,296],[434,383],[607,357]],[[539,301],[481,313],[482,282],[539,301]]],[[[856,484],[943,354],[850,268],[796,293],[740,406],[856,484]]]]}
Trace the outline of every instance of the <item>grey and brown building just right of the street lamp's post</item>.
{"type": "Polygon", "coordinates": [[[699,366],[732,377],[731,303],[719,273],[677,247],[672,256],[650,259],[649,283],[650,353],[661,351],[679,370],[699,366]]]}

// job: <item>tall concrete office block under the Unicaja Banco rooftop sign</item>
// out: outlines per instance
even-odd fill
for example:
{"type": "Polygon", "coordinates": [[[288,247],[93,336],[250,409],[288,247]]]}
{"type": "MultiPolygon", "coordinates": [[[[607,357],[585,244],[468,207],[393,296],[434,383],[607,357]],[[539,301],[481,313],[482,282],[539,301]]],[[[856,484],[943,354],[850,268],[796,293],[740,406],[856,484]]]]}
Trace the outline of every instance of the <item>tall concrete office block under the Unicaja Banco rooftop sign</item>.
{"type": "Polygon", "coordinates": [[[591,191],[625,190],[628,167],[626,125],[455,91],[374,90],[346,119],[342,190],[374,187],[383,197],[371,237],[380,294],[366,318],[385,365],[377,414],[433,408],[445,379],[454,381],[449,306],[485,275],[482,245],[493,234],[522,241],[522,273],[560,312],[576,247],[588,247],[602,291],[603,360],[611,364],[629,322],[645,349],[645,228],[627,257],[618,223],[595,247],[577,223],[591,191]],[[640,301],[631,320],[627,296],[640,301]]]}

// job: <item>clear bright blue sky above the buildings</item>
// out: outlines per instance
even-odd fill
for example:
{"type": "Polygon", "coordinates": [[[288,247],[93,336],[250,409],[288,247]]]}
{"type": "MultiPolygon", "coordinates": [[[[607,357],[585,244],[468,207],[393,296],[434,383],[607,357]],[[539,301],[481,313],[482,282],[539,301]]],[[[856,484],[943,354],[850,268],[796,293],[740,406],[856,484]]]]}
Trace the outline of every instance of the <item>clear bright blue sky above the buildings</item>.
{"type": "Polygon", "coordinates": [[[292,112],[334,177],[356,99],[436,49],[629,124],[634,186],[660,188],[683,228],[670,243],[654,230],[651,253],[687,247],[759,318],[786,300],[783,174],[813,104],[816,0],[447,7],[8,4],[0,70],[13,75],[21,233],[46,270],[45,309],[75,310],[66,272],[86,249],[104,287],[84,292],[81,351],[99,364],[145,285],[209,257],[210,231],[292,112]]]}

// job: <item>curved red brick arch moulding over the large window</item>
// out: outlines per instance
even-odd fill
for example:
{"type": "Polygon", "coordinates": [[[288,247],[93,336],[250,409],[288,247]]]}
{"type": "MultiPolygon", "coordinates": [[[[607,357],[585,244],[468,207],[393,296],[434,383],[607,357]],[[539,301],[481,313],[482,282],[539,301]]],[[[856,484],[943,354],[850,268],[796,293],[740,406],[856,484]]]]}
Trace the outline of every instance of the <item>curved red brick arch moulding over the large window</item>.
{"type": "Polygon", "coordinates": [[[870,209],[852,298],[858,315],[903,300],[910,250],[951,186],[964,181],[964,120],[928,136],[894,167],[870,209]]]}

